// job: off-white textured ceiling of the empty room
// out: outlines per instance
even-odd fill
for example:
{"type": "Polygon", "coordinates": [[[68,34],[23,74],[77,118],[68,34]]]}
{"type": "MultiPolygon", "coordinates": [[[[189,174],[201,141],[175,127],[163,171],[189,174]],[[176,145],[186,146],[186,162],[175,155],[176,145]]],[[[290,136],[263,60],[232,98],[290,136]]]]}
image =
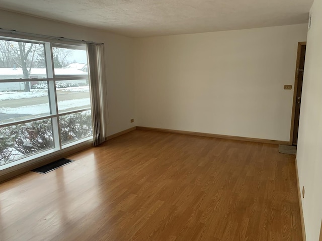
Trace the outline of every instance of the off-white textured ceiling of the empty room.
{"type": "Polygon", "coordinates": [[[312,0],[0,0],[2,9],[147,37],[307,23],[312,0]]]}

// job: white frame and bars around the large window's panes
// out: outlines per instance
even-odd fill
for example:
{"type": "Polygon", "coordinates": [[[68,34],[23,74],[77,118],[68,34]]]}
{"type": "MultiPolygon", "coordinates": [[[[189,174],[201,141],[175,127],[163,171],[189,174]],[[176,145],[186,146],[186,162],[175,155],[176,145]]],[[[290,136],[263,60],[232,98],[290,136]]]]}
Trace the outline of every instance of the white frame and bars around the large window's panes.
{"type": "MultiPolygon", "coordinates": [[[[60,125],[59,125],[59,117],[63,115],[68,115],[68,114],[73,114],[73,113],[79,113],[79,112],[84,112],[88,110],[92,110],[92,106],[87,108],[80,108],[77,110],[73,111],[64,111],[59,113],[58,111],[58,100],[57,100],[57,90],[56,90],[56,82],[59,81],[66,81],[66,80],[79,80],[79,79],[84,79],[87,80],[88,82],[90,81],[90,73],[88,72],[87,74],[76,74],[76,75],[55,75],[55,69],[54,69],[54,61],[53,61],[53,48],[58,47],[58,48],[66,48],[66,49],[79,49],[79,50],[85,50],[86,54],[87,53],[87,46],[86,43],[73,43],[69,42],[68,43],[63,43],[57,42],[54,40],[46,40],[46,39],[35,39],[33,37],[29,38],[28,36],[7,36],[4,33],[1,33],[0,40],[5,40],[5,41],[15,41],[15,42],[24,42],[24,43],[37,43],[37,44],[42,44],[44,47],[44,58],[45,58],[45,66],[46,66],[46,78],[21,78],[21,79],[0,79],[0,83],[9,83],[9,82],[31,82],[32,80],[37,80],[37,81],[46,81],[47,82],[47,91],[48,91],[48,101],[49,101],[49,114],[44,114],[41,116],[37,117],[30,117],[18,121],[12,121],[8,122],[6,120],[5,123],[0,123],[0,128],[5,128],[5,127],[10,127],[10,126],[15,126],[19,124],[26,124],[26,123],[31,123],[35,121],[40,121],[42,119],[50,118],[51,119],[51,128],[52,128],[52,139],[53,139],[53,148],[46,149],[43,151],[36,152],[31,155],[27,155],[25,157],[13,160],[9,163],[0,165],[0,170],[21,164],[25,161],[30,161],[32,160],[33,156],[35,158],[38,158],[41,153],[43,155],[46,155],[48,153],[53,153],[53,152],[59,152],[65,148],[81,144],[83,142],[88,142],[90,139],[93,139],[93,134],[88,137],[80,138],[73,140],[71,142],[68,142],[66,144],[62,144],[61,141],[61,130],[60,130],[60,125]]],[[[87,58],[87,64],[88,64],[88,58],[87,58]]],[[[90,88],[90,86],[89,86],[90,88]]],[[[90,98],[91,95],[89,94],[90,98]]],[[[92,104],[92,103],[91,103],[92,104]]],[[[92,123],[93,125],[93,123],[92,123]]]]}

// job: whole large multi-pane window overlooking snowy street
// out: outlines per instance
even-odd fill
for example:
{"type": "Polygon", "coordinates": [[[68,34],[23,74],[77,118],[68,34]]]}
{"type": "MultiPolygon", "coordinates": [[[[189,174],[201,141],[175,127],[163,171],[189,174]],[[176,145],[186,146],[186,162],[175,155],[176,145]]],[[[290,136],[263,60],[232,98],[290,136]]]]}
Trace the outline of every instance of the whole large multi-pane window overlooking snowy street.
{"type": "Polygon", "coordinates": [[[0,169],[92,138],[88,72],[85,44],[0,37],[0,169]]]}

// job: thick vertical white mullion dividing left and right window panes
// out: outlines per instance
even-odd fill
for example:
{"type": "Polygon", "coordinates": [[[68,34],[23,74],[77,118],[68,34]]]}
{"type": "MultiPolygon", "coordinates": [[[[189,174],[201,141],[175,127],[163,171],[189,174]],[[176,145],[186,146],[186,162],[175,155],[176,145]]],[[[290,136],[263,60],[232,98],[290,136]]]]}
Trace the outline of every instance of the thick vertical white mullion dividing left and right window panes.
{"type": "MultiPolygon", "coordinates": [[[[47,63],[47,76],[48,78],[55,78],[51,43],[45,43],[45,53],[46,53],[45,56],[46,56],[46,63],[47,63]]],[[[54,144],[56,149],[61,149],[55,80],[47,81],[47,86],[48,86],[50,111],[52,114],[55,115],[51,119],[54,144]]]]}

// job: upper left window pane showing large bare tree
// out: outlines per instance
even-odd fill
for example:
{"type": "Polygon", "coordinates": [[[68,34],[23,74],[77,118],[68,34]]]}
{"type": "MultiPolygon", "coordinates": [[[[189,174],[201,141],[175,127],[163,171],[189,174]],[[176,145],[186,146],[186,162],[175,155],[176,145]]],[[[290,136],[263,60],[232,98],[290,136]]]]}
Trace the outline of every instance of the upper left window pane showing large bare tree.
{"type": "Polygon", "coordinates": [[[29,78],[47,78],[44,45],[0,40],[0,79],[29,78]]]}

